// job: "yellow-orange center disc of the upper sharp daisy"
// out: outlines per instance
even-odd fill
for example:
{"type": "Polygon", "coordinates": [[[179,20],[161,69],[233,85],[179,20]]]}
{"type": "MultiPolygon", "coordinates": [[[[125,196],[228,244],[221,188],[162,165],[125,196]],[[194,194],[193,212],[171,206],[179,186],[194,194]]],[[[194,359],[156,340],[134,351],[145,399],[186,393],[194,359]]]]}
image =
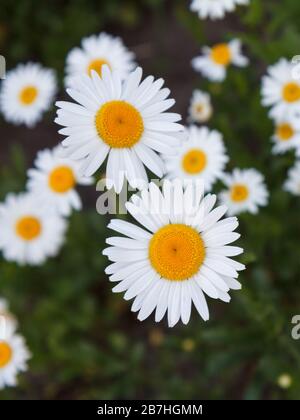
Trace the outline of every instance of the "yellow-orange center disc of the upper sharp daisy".
{"type": "Polygon", "coordinates": [[[115,148],[134,146],[144,132],[141,114],[125,101],[104,104],[96,114],[95,124],[99,137],[115,148]]]}

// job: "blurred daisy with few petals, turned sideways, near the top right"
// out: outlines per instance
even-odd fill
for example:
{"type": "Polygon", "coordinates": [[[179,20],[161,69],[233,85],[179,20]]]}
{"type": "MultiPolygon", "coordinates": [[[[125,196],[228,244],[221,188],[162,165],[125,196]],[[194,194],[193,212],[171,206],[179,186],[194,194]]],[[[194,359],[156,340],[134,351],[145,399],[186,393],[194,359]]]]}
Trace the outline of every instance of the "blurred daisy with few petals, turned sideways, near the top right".
{"type": "Polygon", "coordinates": [[[193,68],[204,77],[215,82],[226,78],[230,65],[245,67],[248,58],[241,53],[241,41],[233,39],[228,43],[216,44],[213,47],[203,47],[202,55],[192,60],[193,68]]]}

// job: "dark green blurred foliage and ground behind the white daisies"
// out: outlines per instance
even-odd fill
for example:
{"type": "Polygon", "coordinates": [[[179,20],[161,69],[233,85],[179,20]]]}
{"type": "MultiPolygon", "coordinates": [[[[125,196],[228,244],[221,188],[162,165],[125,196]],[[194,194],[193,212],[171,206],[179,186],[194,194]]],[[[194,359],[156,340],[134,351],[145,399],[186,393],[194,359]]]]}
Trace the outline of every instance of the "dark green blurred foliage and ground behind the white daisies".
{"type": "MultiPolygon", "coordinates": [[[[209,300],[210,321],[194,312],[187,327],[144,323],[111,292],[101,255],[109,218],[95,210],[94,187],[70,220],[60,255],[39,268],[0,259],[0,296],[10,302],[33,354],[29,370],[0,399],[298,399],[300,341],[299,199],[282,191],[293,154],[273,156],[273,127],[260,105],[260,80],[280,57],[300,54],[300,3],[251,0],[224,20],[200,21],[189,0],[1,0],[0,53],[7,69],[37,61],[56,70],[63,98],[68,51],[82,37],[121,36],[145,74],[163,77],[185,120],[194,88],[212,95],[211,128],[225,139],[230,163],[266,176],[271,200],[240,217],[247,270],[242,291],[225,304],[209,300]],[[213,84],[190,65],[203,45],[239,37],[250,58],[213,84]]],[[[34,129],[0,117],[0,200],[24,190],[38,150],[60,136],[53,106],[34,129]]],[[[217,186],[216,191],[220,186],[217,186]]],[[[0,232],[1,235],[1,232],[0,232]]],[[[1,257],[0,257],[1,258],[1,257]]]]}

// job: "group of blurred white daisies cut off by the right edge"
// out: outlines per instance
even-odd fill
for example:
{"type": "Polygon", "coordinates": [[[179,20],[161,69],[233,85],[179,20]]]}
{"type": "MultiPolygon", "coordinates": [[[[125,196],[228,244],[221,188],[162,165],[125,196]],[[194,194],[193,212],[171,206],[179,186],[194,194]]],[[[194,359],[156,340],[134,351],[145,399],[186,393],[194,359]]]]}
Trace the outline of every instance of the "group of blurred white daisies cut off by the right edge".
{"type": "Polygon", "coordinates": [[[274,123],[274,154],[293,151],[295,164],[288,171],[283,188],[300,195],[300,77],[295,64],[285,58],[268,68],[262,79],[262,104],[270,107],[274,123]]]}

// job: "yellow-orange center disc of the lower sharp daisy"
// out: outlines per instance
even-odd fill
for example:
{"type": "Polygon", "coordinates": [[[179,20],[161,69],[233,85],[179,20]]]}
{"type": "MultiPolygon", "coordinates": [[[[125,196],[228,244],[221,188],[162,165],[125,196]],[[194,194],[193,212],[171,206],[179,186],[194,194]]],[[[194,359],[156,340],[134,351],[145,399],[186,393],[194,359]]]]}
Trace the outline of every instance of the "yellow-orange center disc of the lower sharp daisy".
{"type": "Polygon", "coordinates": [[[149,244],[149,259],[157,273],[167,279],[182,281],[198,273],[205,258],[200,234],[184,224],[160,228],[149,244]]]}

